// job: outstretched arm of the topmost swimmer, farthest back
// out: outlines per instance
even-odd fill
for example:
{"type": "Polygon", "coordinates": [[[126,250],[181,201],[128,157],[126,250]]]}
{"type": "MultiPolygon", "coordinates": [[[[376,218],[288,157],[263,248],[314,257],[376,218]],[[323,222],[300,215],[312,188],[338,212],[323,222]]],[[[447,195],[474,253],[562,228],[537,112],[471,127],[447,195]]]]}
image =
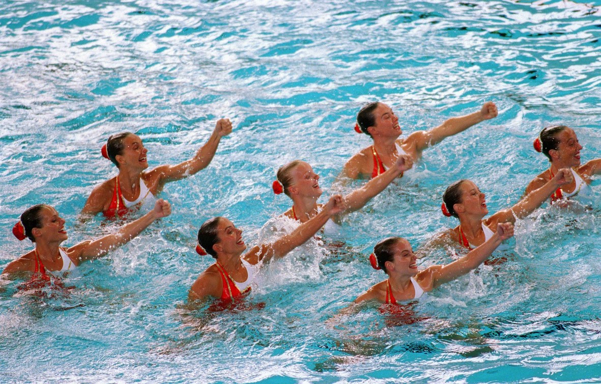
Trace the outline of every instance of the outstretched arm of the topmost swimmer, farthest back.
{"type": "Polygon", "coordinates": [[[451,119],[446,120],[442,125],[426,132],[415,132],[415,134],[410,135],[407,139],[414,137],[415,148],[418,152],[421,152],[429,146],[440,143],[449,136],[465,131],[472,125],[483,122],[484,120],[492,119],[493,117],[496,117],[497,114],[498,112],[495,103],[489,101],[484,103],[481,110],[478,112],[460,117],[451,117],[451,119]],[[418,133],[422,134],[418,135],[418,133]]]}

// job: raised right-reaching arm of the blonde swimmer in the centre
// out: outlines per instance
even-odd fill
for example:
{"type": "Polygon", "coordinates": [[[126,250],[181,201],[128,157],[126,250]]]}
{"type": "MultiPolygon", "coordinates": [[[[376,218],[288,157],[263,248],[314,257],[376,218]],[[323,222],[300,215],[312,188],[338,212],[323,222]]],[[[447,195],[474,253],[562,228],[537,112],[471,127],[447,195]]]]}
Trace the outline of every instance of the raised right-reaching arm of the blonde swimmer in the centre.
{"type": "Polygon", "coordinates": [[[400,155],[394,165],[371,179],[363,187],[358,188],[344,196],[343,213],[353,212],[365,205],[374,196],[382,192],[398,175],[413,166],[413,159],[408,155],[400,155]]]}

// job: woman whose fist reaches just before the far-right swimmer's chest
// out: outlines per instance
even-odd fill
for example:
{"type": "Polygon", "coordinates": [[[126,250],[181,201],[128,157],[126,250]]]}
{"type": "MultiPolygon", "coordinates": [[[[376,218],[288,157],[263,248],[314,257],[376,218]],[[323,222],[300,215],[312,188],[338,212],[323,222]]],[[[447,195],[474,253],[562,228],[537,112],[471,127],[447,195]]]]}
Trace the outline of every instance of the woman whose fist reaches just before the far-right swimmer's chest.
{"type": "Polygon", "coordinates": [[[511,208],[501,209],[486,220],[488,214],[484,193],[469,180],[460,180],[449,185],[442,195],[442,213],[459,218],[459,225],[447,232],[451,240],[472,249],[483,244],[495,233],[498,223],[515,223],[518,218],[524,218],[540,207],[542,203],[561,185],[573,181],[572,173],[564,168],[537,190],[531,191],[511,208]]]}

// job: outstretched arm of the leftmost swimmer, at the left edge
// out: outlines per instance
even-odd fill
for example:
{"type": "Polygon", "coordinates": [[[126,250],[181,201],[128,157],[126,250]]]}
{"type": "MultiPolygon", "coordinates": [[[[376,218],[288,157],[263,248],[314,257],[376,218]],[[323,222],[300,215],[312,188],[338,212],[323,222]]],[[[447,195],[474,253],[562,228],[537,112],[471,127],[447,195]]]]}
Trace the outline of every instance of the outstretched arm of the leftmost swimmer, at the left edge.
{"type": "Polygon", "coordinates": [[[79,265],[82,261],[100,258],[132,238],[138,236],[154,220],[171,214],[171,205],[163,199],[157,200],[154,209],[138,220],[122,226],[116,234],[106,235],[93,241],[83,241],[67,250],[69,257],[79,265]]]}

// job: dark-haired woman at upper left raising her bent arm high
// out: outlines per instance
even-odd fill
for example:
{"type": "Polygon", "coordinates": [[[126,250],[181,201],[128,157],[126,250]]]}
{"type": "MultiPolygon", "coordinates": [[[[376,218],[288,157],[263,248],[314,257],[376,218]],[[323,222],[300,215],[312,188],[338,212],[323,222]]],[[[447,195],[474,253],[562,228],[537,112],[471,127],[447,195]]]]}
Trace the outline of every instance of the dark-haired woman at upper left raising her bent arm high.
{"type": "Polygon", "coordinates": [[[103,146],[102,155],[117,166],[119,175],[94,188],[81,213],[96,215],[103,212],[106,217],[113,218],[138,209],[146,199],[154,199],[166,183],[187,178],[207,167],[219,141],[231,130],[229,119],[218,120],[209,141],[192,159],[175,166],[158,166],[148,172],[145,172],[148,150],[141,138],[130,132],[112,135],[103,146]]]}

